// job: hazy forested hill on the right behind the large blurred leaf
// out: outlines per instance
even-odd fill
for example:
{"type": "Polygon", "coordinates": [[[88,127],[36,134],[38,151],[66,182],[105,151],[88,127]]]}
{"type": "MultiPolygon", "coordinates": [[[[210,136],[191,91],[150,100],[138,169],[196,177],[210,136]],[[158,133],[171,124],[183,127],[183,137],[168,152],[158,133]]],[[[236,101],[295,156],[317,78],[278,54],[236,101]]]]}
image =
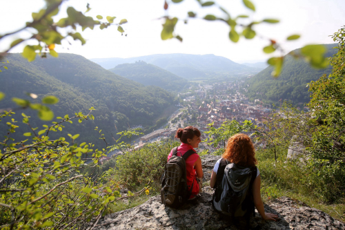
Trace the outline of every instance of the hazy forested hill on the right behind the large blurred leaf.
{"type": "MultiPolygon", "coordinates": [[[[331,57],[337,52],[337,44],[326,44],[328,52],[326,57],[331,57]]],[[[299,52],[300,49],[293,50],[299,52]]],[[[279,77],[272,77],[272,67],[267,67],[260,73],[251,77],[245,82],[248,86],[246,95],[249,99],[262,99],[267,103],[277,103],[289,100],[293,103],[306,103],[310,100],[308,84],[311,81],[319,79],[324,74],[331,73],[331,66],[324,69],[311,67],[302,59],[295,59],[290,55],[284,58],[284,67],[279,77]]]]}

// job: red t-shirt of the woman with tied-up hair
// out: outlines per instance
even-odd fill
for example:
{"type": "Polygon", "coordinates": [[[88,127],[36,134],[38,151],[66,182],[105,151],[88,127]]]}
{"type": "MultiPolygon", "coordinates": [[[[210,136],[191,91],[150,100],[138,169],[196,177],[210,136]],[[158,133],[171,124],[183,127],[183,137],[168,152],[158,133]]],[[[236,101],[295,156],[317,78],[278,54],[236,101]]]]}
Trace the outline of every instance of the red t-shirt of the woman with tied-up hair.
{"type": "MultiPolygon", "coordinates": [[[[190,149],[193,149],[193,151],[195,151],[194,148],[190,144],[182,143],[177,148],[177,155],[180,156],[180,153],[181,153],[181,155],[184,155],[184,153],[186,153],[190,149]]],[[[170,159],[170,157],[172,157],[172,150],[170,151],[170,153],[168,155],[168,160],[170,159]]],[[[196,171],[195,171],[194,166],[193,166],[198,158],[199,158],[199,155],[197,153],[193,153],[186,160],[186,177],[187,177],[187,185],[189,187],[188,189],[190,189],[190,186],[192,186],[192,184],[194,182],[192,195],[190,196],[190,198],[194,198],[194,195],[197,195],[199,193],[199,184],[197,183],[197,180],[195,178],[196,177],[196,171]]]]}

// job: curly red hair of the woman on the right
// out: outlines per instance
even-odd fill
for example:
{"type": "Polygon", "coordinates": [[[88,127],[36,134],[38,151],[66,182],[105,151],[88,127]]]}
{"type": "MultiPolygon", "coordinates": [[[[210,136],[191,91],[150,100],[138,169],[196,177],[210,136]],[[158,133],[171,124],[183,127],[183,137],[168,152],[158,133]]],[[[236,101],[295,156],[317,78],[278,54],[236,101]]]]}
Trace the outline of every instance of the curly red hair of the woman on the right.
{"type": "Polygon", "coordinates": [[[226,150],[221,157],[244,167],[257,164],[253,142],[248,135],[243,133],[237,133],[229,138],[226,150]]]}

